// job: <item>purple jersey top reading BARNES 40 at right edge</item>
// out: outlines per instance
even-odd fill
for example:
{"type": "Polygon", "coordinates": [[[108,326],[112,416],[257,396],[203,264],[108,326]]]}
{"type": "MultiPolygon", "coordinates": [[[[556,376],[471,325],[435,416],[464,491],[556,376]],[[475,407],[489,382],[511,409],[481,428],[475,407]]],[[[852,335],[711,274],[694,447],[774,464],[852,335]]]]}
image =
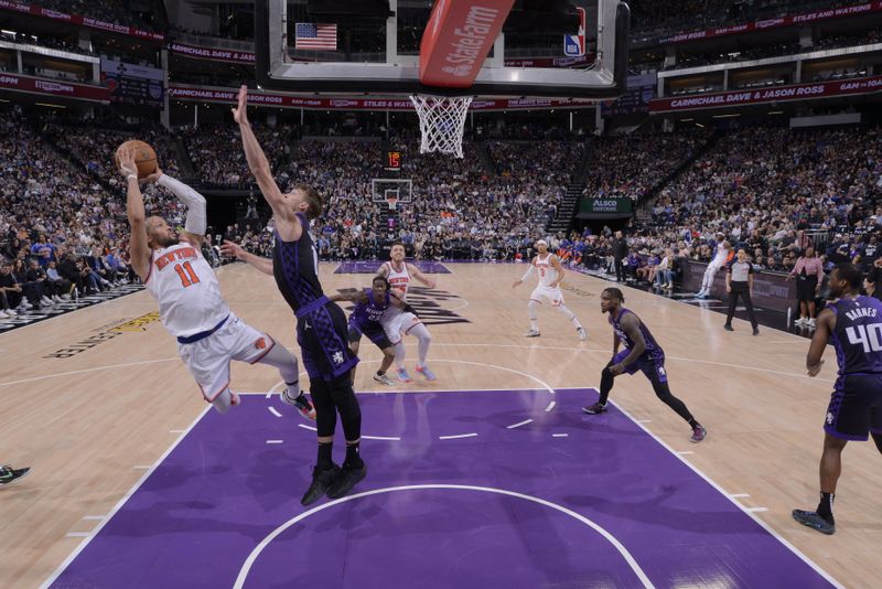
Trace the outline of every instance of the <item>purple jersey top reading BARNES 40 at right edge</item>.
{"type": "Polygon", "coordinates": [[[828,308],[836,313],[831,340],[839,374],[882,373],[882,302],[856,297],[839,299],[828,308]]]}

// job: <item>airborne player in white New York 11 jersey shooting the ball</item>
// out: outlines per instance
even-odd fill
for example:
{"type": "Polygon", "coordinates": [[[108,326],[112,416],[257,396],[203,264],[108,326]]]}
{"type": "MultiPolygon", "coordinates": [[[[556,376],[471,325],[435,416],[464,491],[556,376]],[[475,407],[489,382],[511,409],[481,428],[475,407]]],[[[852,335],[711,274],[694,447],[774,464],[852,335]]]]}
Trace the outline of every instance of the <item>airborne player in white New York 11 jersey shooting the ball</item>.
{"type": "Polygon", "coordinates": [[[172,191],[186,206],[184,232],[179,236],[162,217],[144,215],[131,152],[117,152],[119,169],[128,185],[127,213],[131,225],[131,266],[159,303],[162,324],[178,338],[178,352],[202,389],[206,401],[219,413],[239,404],[229,388],[229,362],[238,360],[269,364],[288,385],[284,403],[315,419],[312,403],[300,390],[297,358],[272,338],[247,325],[230,313],[220,297],[217,277],[202,256],[205,236],[205,199],[186,184],[157,170],[146,179],[172,191]]]}

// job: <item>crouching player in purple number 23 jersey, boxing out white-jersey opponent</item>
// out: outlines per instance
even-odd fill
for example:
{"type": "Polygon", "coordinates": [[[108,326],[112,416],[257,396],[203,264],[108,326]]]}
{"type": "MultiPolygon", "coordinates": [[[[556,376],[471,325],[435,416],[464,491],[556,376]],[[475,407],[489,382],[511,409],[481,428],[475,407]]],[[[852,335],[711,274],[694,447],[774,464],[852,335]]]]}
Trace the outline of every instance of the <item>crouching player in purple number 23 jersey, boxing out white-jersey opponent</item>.
{"type": "MultiPolygon", "coordinates": [[[[395,383],[386,376],[386,371],[395,362],[395,346],[386,335],[386,330],[383,328],[380,319],[383,319],[383,313],[389,307],[405,309],[407,303],[389,289],[389,281],[385,276],[375,276],[372,288],[334,294],[330,299],[337,302],[352,301],[355,303],[355,309],[349,314],[349,350],[357,356],[362,335],[367,335],[367,339],[374,342],[383,352],[383,362],[374,375],[374,381],[392,386],[395,383]]],[[[351,374],[352,382],[355,384],[355,368],[351,371],[351,374]]]]}

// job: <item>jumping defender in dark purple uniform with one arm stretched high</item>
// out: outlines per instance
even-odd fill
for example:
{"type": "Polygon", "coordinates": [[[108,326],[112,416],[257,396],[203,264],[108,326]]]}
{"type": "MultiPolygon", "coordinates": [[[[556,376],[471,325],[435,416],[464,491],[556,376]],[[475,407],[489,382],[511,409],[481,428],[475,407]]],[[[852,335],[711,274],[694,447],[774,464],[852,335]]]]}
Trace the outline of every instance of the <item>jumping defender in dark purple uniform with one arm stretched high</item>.
{"type": "Polygon", "coordinates": [[[310,235],[310,221],[322,212],[322,199],[306,185],[283,194],[269,168],[269,161],[257,141],[247,116],[248,88],[239,89],[233,118],[239,125],[248,168],[260,192],[272,208],[275,243],[272,259],[249,259],[276,283],[297,315],[297,342],[303,366],[310,376],[310,392],[315,404],[319,453],[312,471],[312,483],[300,502],[309,505],[325,494],[341,497],[367,474],[358,445],[362,439],[362,409],[352,388],[349,371],[358,358],[346,345],[346,315],[329,300],[319,282],[319,255],[310,235]],[[346,438],[343,469],[334,464],[332,448],[337,414],[346,438]]]}

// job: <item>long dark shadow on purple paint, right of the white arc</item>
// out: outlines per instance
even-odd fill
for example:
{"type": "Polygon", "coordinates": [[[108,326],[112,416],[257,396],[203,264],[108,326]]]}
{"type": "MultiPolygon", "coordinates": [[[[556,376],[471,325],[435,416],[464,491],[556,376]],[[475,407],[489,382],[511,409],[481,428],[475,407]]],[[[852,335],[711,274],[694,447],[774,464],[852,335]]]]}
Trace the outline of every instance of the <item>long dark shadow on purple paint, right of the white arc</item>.
{"type": "MultiPolygon", "coordinates": [[[[757,534],[766,532],[744,513],[734,506],[727,511],[702,511],[695,503],[689,508],[663,505],[677,494],[671,485],[662,488],[660,494],[646,501],[613,501],[601,495],[567,495],[563,501],[570,506],[588,507],[614,517],[634,520],[643,524],[691,532],[695,534],[757,534]]],[[[581,510],[583,514],[589,515],[581,510]]]]}

